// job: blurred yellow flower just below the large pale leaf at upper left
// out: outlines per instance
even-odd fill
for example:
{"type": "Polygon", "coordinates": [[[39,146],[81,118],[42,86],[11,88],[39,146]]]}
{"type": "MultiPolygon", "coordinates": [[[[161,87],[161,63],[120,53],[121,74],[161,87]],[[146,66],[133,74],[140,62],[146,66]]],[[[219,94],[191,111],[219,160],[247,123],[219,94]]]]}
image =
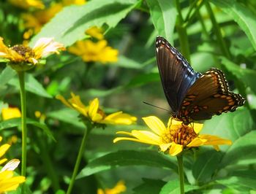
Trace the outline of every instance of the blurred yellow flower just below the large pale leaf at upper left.
{"type": "Polygon", "coordinates": [[[118,50],[107,46],[106,40],[99,40],[99,42],[92,42],[91,40],[81,40],[75,45],[69,47],[69,52],[81,56],[83,61],[98,61],[101,63],[116,62],[118,50]]]}

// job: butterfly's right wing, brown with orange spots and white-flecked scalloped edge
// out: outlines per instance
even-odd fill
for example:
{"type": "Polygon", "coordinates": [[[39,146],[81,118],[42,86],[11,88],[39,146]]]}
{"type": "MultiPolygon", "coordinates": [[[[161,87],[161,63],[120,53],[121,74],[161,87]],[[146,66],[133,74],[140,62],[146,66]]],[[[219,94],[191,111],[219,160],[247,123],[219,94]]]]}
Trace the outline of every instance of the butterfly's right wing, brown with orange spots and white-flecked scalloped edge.
{"type": "Polygon", "coordinates": [[[189,88],[180,116],[190,120],[208,120],[222,112],[233,112],[244,102],[240,94],[230,92],[223,72],[212,68],[189,88]]]}

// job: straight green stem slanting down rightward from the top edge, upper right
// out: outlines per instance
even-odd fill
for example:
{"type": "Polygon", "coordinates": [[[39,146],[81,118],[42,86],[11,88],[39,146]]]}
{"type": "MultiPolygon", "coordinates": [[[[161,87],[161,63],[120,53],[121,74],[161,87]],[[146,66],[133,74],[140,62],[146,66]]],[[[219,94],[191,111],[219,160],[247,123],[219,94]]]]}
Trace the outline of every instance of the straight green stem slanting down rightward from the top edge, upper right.
{"type": "Polygon", "coordinates": [[[213,25],[214,33],[216,34],[217,41],[219,42],[220,50],[222,50],[222,53],[223,55],[225,55],[225,57],[227,57],[228,59],[231,59],[230,51],[228,50],[227,45],[222,37],[222,32],[214,16],[214,12],[211,9],[211,5],[207,1],[205,1],[205,4],[206,4],[206,9],[208,11],[208,14],[211,18],[211,23],[213,25]]]}

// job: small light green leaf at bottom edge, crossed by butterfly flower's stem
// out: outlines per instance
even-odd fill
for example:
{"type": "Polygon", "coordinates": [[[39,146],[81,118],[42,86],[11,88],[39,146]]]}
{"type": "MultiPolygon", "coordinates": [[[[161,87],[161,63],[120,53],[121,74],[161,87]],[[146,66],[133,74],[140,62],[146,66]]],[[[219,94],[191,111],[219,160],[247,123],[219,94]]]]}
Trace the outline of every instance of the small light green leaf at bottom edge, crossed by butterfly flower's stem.
{"type": "MultiPolygon", "coordinates": [[[[190,190],[197,189],[197,186],[187,185],[185,184],[184,189],[185,192],[189,192],[190,190]]],[[[162,187],[161,192],[159,194],[176,194],[180,193],[179,181],[178,179],[170,180],[162,187]]]]}

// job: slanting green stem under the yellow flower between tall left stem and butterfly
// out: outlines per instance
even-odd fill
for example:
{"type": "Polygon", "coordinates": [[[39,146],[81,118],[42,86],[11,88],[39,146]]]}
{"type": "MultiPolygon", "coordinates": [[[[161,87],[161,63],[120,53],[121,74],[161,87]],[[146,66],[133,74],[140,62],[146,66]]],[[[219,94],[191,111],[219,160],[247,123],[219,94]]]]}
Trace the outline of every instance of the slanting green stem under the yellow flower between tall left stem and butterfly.
{"type": "Polygon", "coordinates": [[[84,153],[84,150],[85,150],[85,145],[86,145],[86,139],[88,137],[88,134],[89,132],[91,131],[92,129],[92,126],[88,126],[87,125],[87,129],[85,130],[84,132],[84,135],[83,135],[83,139],[82,139],[82,142],[80,144],[80,148],[79,148],[79,152],[78,152],[78,158],[75,162],[75,168],[73,170],[73,174],[72,174],[72,178],[69,182],[69,187],[67,189],[67,194],[70,194],[71,191],[72,191],[72,188],[74,186],[74,183],[75,183],[75,177],[77,176],[78,174],[78,168],[80,166],[80,162],[81,162],[81,159],[82,159],[82,156],[83,156],[83,153],[84,153]]]}

